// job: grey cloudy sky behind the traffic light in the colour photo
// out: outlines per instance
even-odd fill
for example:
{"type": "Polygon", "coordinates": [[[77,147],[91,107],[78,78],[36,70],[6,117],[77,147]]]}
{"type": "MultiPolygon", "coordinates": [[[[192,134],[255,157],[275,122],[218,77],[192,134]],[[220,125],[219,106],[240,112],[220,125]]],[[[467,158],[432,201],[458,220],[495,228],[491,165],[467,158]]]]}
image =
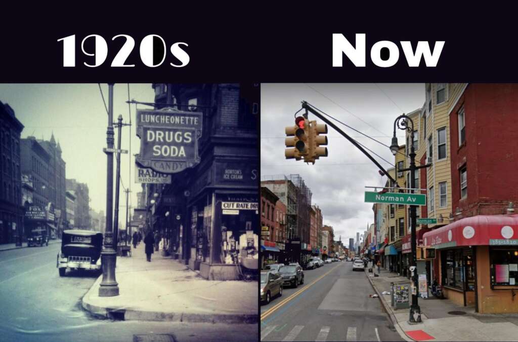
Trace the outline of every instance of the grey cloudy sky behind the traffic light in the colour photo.
{"type": "MultiPolygon", "coordinates": [[[[335,231],[335,240],[356,239],[373,223],[372,203],[364,202],[365,186],[382,186],[386,177],[361,151],[328,127],[328,157],[314,165],[284,157],[284,127],[295,124],[300,102],[307,101],[385,145],[391,144],[394,120],[402,113],[422,107],[424,84],[262,84],[261,85],[261,174],[300,174],[312,191],[312,204],[318,205],[324,224],[335,231]]],[[[299,114],[302,114],[300,112],[299,114]]],[[[310,120],[322,122],[314,115],[310,120]]],[[[394,157],[384,147],[335,122],[344,132],[391,164],[394,157]]],[[[399,144],[403,131],[396,132],[399,144]]],[[[375,157],[383,168],[393,165],[375,157]]],[[[372,190],[372,189],[371,189],[372,190]]]]}

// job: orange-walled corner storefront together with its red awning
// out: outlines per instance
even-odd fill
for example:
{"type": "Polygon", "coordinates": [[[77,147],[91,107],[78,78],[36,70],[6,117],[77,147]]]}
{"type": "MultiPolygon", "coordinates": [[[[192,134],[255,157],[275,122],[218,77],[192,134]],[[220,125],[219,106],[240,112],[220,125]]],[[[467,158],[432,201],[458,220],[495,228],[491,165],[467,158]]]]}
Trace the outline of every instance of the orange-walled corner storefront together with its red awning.
{"type": "Polygon", "coordinates": [[[444,296],[480,313],[518,313],[518,215],[477,215],[427,232],[444,296]]]}

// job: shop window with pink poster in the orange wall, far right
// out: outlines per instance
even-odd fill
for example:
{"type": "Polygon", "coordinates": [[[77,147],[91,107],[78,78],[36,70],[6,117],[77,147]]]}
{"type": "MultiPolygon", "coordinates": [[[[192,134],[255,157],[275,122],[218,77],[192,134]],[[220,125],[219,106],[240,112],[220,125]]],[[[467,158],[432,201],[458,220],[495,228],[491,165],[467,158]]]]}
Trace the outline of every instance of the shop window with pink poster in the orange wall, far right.
{"type": "Polygon", "coordinates": [[[516,286],[518,280],[518,247],[490,249],[491,287],[516,286]]]}

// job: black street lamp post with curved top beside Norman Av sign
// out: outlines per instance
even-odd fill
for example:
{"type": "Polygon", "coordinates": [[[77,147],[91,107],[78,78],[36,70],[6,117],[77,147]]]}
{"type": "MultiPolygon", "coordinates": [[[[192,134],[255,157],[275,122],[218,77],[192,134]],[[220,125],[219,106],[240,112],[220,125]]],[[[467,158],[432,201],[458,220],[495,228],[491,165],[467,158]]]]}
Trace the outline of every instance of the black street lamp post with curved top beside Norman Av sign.
{"type": "MultiPolygon", "coordinates": [[[[415,188],[415,170],[428,167],[429,165],[423,165],[420,167],[415,166],[415,149],[414,149],[414,122],[412,119],[402,114],[396,118],[394,121],[394,135],[392,137],[392,144],[390,146],[390,150],[393,155],[396,155],[399,149],[399,145],[397,143],[396,138],[396,126],[400,130],[404,130],[410,133],[410,167],[408,169],[397,170],[400,171],[410,171],[410,193],[414,193],[415,188]],[[410,125],[409,125],[410,123],[410,125]]],[[[416,270],[417,260],[416,260],[416,240],[415,240],[415,225],[416,225],[416,207],[410,205],[410,245],[412,250],[412,256],[410,259],[410,270],[412,272],[412,282],[413,282],[413,291],[412,291],[412,305],[410,306],[410,318],[409,323],[421,323],[421,308],[418,304],[418,275],[416,270]]]]}

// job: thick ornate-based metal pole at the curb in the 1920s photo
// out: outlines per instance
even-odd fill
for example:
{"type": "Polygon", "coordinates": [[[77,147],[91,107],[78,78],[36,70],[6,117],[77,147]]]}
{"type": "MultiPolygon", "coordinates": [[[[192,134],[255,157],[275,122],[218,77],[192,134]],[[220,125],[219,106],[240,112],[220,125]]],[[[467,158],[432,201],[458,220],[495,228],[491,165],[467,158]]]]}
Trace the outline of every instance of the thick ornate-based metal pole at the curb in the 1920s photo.
{"type": "Polygon", "coordinates": [[[119,295],[119,284],[115,279],[115,262],[117,252],[113,249],[113,83],[108,84],[108,130],[106,132],[107,174],[106,174],[106,234],[104,238],[101,261],[103,265],[103,280],[99,286],[99,297],[119,295]]]}

